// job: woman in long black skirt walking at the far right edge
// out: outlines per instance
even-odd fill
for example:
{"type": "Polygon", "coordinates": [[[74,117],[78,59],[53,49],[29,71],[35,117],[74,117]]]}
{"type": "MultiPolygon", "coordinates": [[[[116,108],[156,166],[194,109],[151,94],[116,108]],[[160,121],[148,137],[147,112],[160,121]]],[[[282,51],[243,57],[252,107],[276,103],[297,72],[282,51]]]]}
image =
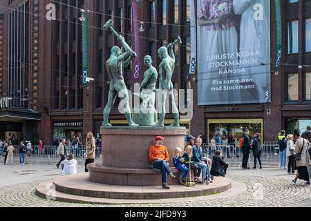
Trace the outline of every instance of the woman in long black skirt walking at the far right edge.
{"type": "MultiPolygon", "coordinates": [[[[299,129],[294,130],[294,138],[296,139],[295,150],[296,153],[296,165],[299,173],[299,180],[305,180],[305,185],[310,185],[308,168],[310,164],[309,146],[308,140],[303,139],[300,135],[299,129]]],[[[296,183],[296,178],[293,180],[296,183]]]]}

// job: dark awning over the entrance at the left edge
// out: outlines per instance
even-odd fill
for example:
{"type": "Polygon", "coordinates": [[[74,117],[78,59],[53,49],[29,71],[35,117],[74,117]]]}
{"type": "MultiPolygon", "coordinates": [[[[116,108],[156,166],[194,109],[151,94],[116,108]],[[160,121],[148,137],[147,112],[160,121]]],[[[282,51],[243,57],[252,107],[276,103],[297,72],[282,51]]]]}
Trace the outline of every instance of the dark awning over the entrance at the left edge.
{"type": "Polygon", "coordinates": [[[26,108],[0,109],[0,122],[20,122],[23,120],[41,120],[41,113],[26,108]]]}

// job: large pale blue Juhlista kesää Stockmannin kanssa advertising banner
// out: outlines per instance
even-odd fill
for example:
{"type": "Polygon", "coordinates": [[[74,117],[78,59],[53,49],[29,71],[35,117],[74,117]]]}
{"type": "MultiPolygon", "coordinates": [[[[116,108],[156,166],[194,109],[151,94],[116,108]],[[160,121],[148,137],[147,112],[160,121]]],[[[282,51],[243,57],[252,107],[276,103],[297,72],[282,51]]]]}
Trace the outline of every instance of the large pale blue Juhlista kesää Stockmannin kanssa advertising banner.
{"type": "Polygon", "coordinates": [[[198,0],[198,104],[271,102],[270,1],[198,0]]]}

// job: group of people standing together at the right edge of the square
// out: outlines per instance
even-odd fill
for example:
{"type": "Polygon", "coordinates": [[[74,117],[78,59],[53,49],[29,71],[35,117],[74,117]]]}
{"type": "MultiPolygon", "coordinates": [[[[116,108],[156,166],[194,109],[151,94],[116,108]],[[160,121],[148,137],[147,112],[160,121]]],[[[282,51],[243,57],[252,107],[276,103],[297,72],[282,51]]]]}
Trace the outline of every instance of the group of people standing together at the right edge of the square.
{"type": "Polygon", "coordinates": [[[305,185],[310,185],[311,180],[311,126],[301,134],[299,129],[294,134],[286,135],[282,130],[278,134],[281,170],[288,170],[288,174],[295,175],[292,182],[304,180],[305,185]],[[288,161],[288,166],[286,162],[288,161]]]}

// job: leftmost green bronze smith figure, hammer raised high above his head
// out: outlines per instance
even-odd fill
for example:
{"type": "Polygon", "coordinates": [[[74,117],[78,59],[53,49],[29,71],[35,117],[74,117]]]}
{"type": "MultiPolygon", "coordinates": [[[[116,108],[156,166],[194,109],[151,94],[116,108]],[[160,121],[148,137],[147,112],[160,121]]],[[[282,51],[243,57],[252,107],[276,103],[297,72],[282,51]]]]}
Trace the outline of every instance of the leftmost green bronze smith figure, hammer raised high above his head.
{"type": "Polygon", "coordinates": [[[126,85],[124,83],[123,78],[123,69],[131,64],[131,60],[136,57],[136,53],[131,50],[129,45],[126,43],[124,37],[122,35],[117,34],[117,32],[112,27],[113,21],[109,20],[105,23],[105,29],[111,29],[114,35],[117,36],[117,39],[121,41],[122,46],[125,49],[125,52],[122,54],[121,49],[117,46],[113,46],[111,48],[111,56],[109,57],[108,61],[106,61],[106,70],[109,74],[111,79],[109,95],[108,95],[108,102],[106,107],[104,108],[104,122],[102,126],[111,126],[109,124],[109,114],[111,111],[111,107],[117,98],[122,97],[124,102],[124,115],[129,123],[129,126],[139,126],[132,121],[131,117],[131,107],[129,106],[129,93],[127,92],[126,85]],[[126,61],[123,62],[123,60],[126,61]]]}

